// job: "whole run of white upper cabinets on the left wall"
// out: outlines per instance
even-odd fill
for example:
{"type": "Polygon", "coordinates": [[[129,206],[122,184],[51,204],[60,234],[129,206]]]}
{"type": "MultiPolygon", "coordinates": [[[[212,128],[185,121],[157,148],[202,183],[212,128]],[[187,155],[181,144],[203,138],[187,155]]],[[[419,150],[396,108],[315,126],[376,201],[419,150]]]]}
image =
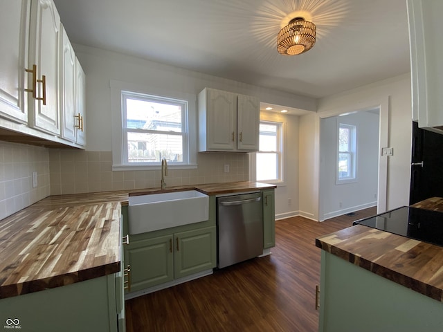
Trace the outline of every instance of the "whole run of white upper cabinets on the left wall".
{"type": "Polygon", "coordinates": [[[0,1],[0,49],[0,128],[19,134],[2,139],[84,147],[85,76],[53,0],[0,1]]]}

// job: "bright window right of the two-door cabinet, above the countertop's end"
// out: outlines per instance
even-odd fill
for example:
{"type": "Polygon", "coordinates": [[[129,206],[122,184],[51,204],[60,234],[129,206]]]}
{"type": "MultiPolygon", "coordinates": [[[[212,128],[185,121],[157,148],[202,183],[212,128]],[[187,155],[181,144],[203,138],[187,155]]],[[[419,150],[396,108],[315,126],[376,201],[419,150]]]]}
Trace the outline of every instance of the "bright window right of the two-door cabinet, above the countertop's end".
{"type": "Polygon", "coordinates": [[[282,181],[282,123],[260,121],[260,147],[256,155],[256,181],[282,181]]]}

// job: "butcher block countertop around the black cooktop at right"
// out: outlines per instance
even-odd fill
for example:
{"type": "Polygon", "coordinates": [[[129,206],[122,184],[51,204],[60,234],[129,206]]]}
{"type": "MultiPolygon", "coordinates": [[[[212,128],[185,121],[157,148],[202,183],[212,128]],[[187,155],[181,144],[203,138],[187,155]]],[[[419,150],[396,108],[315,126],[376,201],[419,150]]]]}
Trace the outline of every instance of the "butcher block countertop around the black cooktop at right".
{"type": "MultiPolygon", "coordinates": [[[[442,211],[443,199],[435,197],[412,206],[442,211]]],[[[443,247],[364,225],[318,237],[316,246],[443,302],[443,247]]]]}

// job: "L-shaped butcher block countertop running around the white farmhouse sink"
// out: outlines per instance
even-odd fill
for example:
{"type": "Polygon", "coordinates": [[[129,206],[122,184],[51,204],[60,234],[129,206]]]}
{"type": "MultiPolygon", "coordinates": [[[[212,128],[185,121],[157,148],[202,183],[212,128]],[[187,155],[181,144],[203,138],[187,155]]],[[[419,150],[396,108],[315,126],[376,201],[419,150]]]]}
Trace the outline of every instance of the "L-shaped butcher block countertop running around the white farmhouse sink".
{"type": "Polygon", "coordinates": [[[244,192],[275,185],[238,182],[167,190],[49,196],[0,221],[0,299],[120,270],[120,208],[129,194],[199,190],[244,192]]]}

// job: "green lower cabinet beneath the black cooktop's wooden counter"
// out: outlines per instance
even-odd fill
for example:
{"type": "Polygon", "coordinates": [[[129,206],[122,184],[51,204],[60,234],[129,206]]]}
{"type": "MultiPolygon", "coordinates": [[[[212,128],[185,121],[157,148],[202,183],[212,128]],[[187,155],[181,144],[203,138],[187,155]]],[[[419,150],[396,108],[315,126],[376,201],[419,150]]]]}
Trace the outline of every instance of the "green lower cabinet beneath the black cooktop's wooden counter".
{"type": "Polygon", "coordinates": [[[322,250],[318,325],[320,332],[441,332],[443,303],[322,250]]]}

